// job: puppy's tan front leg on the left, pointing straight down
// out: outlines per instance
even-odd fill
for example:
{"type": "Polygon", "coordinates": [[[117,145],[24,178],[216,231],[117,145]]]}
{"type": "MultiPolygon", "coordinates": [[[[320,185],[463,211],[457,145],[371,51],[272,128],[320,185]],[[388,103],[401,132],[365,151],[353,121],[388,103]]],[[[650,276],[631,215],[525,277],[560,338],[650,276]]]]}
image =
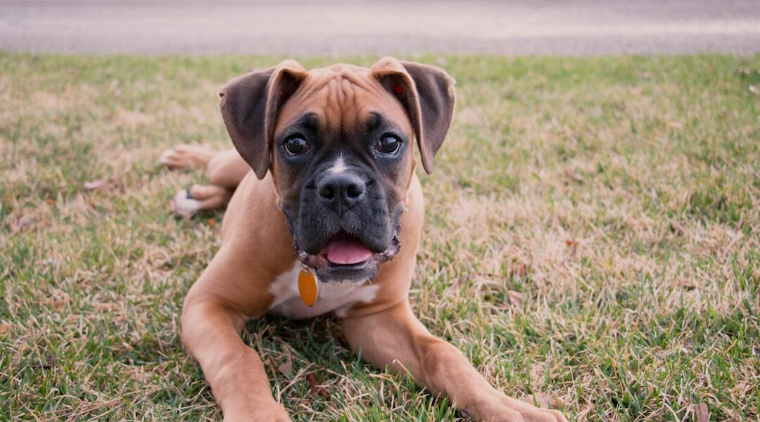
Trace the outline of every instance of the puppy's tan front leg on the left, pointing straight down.
{"type": "Polygon", "coordinates": [[[272,397],[261,358],[240,339],[246,318],[224,298],[235,289],[219,285],[204,274],[190,289],[182,308],[182,343],[201,364],[225,421],[290,420],[272,397]]]}

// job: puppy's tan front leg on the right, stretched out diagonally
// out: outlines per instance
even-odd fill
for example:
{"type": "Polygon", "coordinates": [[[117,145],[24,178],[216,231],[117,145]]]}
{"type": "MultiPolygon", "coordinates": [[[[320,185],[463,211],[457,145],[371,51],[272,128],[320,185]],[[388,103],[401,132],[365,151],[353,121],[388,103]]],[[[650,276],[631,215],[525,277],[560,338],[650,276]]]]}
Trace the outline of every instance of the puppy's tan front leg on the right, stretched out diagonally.
{"type": "Polygon", "coordinates": [[[363,359],[446,395],[463,413],[479,420],[566,422],[559,411],[543,410],[494,389],[453,345],[438,339],[403,302],[382,312],[343,321],[351,348],[363,359]]]}

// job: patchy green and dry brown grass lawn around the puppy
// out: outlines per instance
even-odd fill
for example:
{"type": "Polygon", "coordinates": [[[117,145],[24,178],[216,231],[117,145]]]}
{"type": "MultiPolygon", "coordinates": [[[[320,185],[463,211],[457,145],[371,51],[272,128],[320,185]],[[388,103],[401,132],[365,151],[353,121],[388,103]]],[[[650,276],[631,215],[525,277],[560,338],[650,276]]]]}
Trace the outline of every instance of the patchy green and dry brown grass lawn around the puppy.
{"type": "MultiPolygon", "coordinates": [[[[760,55],[413,59],[458,80],[423,323],[571,420],[758,420],[760,55]]],[[[220,418],[179,315],[222,214],[169,215],[203,177],[158,156],[230,146],[219,88],[279,60],[0,53],[0,420],[220,418]]],[[[294,420],[461,417],[331,318],[244,339],[294,420]]]]}

